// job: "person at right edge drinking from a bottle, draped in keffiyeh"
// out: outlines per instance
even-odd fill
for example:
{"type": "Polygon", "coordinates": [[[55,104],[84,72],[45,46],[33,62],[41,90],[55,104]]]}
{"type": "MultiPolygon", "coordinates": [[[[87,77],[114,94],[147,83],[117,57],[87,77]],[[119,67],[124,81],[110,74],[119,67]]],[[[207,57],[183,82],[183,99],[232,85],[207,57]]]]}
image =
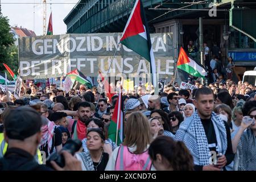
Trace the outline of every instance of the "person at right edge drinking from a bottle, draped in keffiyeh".
{"type": "Polygon", "coordinates": [[[236,153],[236,171],[256,171],[256,107],[253,107],[248,115],[253,122],[246,123],[243,117],[240,130],[232,140],[233,152],[236,153]]]}

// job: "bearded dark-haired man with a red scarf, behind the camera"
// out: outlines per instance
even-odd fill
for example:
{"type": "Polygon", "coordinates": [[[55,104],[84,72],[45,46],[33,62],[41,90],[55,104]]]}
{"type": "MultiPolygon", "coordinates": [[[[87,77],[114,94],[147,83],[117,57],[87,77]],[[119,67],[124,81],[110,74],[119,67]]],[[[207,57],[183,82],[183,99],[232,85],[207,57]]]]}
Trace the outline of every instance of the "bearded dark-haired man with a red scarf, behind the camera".
{"type": "Polygon", "coordinates": [[[75,121],[72,125],[72,139],[84,139],[86,138],[86,126],[85,121],[92,117],[91,108],[89,102],[80,102],[77,109],[78,121],[75,121]]]}

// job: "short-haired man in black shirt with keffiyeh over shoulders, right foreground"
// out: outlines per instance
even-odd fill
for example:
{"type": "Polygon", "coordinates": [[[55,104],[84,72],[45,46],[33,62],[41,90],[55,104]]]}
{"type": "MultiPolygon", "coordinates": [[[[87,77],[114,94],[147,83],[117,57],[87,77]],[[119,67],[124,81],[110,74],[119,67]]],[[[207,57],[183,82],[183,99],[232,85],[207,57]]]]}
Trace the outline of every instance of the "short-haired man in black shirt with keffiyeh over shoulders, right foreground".
{"type": "Polygon", "coordinates": [[[206,87],[197,89],[193,104],[197,111],[180,124],[175,139],[188,147],[196,170],[225,170],[234,154],[228,123],[213,112],[213,91],[206,87]]]}

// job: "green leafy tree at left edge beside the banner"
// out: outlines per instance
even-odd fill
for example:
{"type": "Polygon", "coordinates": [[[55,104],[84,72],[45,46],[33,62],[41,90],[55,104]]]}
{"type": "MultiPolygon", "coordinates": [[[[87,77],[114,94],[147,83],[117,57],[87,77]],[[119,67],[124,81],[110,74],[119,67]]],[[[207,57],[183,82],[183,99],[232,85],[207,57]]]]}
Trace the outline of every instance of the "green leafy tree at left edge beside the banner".
{"type": "MultiPolygon", "coordinates": [[[[6,71],[2,64],[5,63],[16,74],[19,67],[18,48],[14,45],[15,39],[10,30],[9,19],[0,14],[0,71],[6,71]]],[[[11,78],[10,75],[8,77],[11,78]]]]}

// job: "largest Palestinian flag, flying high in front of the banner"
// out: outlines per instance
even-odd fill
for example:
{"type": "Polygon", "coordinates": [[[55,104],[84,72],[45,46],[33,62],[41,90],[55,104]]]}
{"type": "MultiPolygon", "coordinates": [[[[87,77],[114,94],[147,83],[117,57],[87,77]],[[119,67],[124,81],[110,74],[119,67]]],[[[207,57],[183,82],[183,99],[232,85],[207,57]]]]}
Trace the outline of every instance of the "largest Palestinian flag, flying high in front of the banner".
{"type": "Polygon", "coordinates": [[[150,62],[152,84],[156,86],[155,57],[141,0],[135,2],[120,42],[150,62]]]}

